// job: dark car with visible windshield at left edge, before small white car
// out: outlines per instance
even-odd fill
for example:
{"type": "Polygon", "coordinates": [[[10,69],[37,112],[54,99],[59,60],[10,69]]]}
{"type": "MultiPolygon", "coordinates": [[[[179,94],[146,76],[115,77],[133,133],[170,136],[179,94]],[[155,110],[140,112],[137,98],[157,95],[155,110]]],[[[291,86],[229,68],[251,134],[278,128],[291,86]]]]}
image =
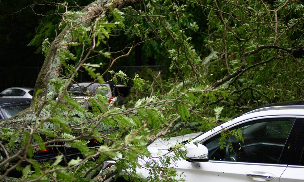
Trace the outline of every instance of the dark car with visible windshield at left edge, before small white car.
{"type": "Polygon", "coordinates": [[[31,104],[32,99],[0,97],[0,119],[8,119],[31,104]]]}

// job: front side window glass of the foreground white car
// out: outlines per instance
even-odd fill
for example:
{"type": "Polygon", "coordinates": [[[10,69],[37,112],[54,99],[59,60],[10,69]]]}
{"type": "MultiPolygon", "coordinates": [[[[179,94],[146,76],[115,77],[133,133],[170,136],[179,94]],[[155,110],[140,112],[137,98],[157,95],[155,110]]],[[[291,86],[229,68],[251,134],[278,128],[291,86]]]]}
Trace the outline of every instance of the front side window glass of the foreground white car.
{"type": "Polygon", "coordinates": [[[209,160],[278,163],[295,118],[250,121],[213,136],[203,144],[209,160]]]}

